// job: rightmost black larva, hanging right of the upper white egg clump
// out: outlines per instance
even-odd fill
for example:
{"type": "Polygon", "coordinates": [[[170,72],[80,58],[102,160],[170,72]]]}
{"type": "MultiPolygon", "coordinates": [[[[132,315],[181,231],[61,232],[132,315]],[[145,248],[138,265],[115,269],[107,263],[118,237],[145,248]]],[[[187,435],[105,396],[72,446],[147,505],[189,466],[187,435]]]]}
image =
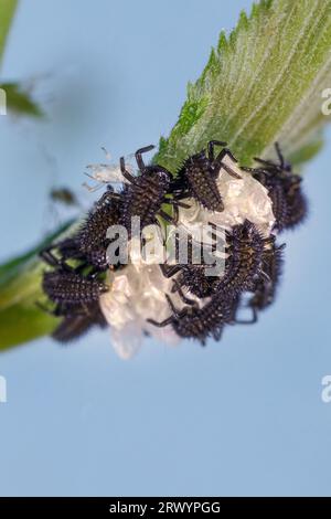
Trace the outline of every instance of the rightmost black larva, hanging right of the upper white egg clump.
{"type": "Polygon", "coordinates": [[[278,142],[275,142],[275,148],[279,163],[255,157],[254,160],[261,166],[243,169],[253,172],[254,178],[268,190],[276,219],[275,229],[280,232],[305,220],[308,203],[302,193],[301,177],[295,174],[291,165],[285,161],[278,142]]]}

